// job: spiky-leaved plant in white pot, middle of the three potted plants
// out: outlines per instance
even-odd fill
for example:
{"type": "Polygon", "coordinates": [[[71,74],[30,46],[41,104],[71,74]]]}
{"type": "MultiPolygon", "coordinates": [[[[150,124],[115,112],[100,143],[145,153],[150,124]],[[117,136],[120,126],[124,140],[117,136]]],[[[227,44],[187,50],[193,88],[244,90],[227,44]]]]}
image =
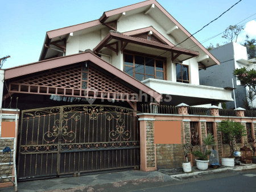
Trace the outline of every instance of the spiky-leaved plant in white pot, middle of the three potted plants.
{"type": "Polygon", "coordinates": [[[211,134],[208,134],[207,136],[205,136],[203,138],[204,140],[204,143],[205,143],[205,149],[204,149],[204,153],[201,152],[201,151],[195,151],[195,152],[192,152],[192,154],[196,157],[199,157],[199,158],[196,158],[196,166],[197,166],[197,169],[200,169],[200,170],[207,170],[208,169],[208,158],[207,156],[210,155],[210,153],[212,153],[211,151],[207,150],[207,147],[209,145],[214,145],[214,136],[211,135],[211,134]]]}

